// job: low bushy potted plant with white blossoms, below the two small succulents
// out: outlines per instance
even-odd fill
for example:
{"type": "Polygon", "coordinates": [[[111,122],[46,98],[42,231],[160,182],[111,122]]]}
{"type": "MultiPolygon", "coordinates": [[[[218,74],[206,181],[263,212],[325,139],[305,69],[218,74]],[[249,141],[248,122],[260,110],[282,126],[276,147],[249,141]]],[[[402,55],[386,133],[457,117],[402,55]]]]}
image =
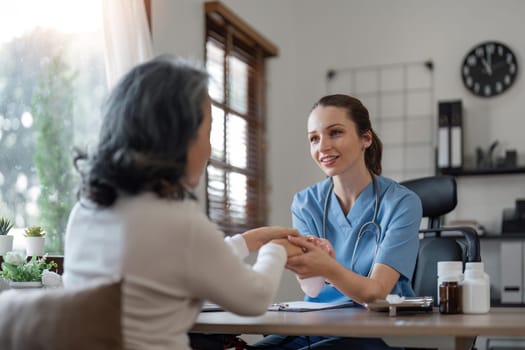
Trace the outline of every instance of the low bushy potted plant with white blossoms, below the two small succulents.
{"type": "Polygon", "coordinates": [[[50,271],[57,267],[54,261],[46,262],[46,256],[32,256],[29,261],[19,252],[7,252],[4,255],[0,276],[11,288],[56,287],[61,284],[61,277],[50,271]]]}

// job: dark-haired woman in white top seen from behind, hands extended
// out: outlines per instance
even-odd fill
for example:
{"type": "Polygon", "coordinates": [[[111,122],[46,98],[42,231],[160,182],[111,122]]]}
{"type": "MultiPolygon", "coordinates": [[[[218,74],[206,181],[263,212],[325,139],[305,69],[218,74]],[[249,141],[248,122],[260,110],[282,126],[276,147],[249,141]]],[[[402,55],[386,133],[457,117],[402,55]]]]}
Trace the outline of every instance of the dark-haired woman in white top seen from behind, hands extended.
{"type": "Polygon", "coordinates": [[[224,238],[193,190],[210,156],[208,74],[163,56],[132,69],[103,110],[67,226],[65,287],[123,277],[126,349],[188,349],[204,300],[242,315],[273,301],[295,230],[224,238]],[[250,266],[243,258],[258,250],[250,266]],[[234,292],[232,292],[234,291],[234,292]]]}

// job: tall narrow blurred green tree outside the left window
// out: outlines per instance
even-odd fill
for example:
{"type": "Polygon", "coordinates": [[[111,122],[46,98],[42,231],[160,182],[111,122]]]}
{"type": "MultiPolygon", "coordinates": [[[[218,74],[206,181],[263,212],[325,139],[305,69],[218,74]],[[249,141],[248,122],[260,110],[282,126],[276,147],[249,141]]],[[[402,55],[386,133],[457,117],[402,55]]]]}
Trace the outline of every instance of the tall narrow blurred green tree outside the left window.
{"type": "Polygon", "coordinates": [[[62,57],[54,56],[43,70],[31,101],[36,136],[34,165],[40,182],[39,225],[47,232],[46,250],[59,253],[74,201],[74,79],[62,57]]]}

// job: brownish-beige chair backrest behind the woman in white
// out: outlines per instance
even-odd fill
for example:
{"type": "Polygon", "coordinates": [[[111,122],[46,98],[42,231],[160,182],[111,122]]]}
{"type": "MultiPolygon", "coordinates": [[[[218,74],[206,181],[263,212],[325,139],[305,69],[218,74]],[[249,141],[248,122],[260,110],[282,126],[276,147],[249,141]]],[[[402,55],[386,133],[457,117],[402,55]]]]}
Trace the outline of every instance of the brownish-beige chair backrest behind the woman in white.
{"type": "Polygon", "coordinates": [[[119,350],[122,281],[0,293],[0,349],[119,350]]]}

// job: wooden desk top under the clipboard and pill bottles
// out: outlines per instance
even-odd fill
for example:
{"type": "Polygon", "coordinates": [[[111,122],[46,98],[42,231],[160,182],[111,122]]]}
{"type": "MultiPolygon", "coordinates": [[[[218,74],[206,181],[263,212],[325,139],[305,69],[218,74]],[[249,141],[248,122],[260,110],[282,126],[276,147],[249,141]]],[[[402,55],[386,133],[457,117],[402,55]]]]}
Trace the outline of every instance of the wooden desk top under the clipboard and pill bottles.
{"type": "Polygon", "coordinates": [[[381,337],[391,346],[470,349],[476,336],[525,336],[525,310],[492,308],[482,315],[441,315],[434,311],[394,317],[364,308],[269,311],[257,317],[203,312],[192,332],[381,337]]]}

